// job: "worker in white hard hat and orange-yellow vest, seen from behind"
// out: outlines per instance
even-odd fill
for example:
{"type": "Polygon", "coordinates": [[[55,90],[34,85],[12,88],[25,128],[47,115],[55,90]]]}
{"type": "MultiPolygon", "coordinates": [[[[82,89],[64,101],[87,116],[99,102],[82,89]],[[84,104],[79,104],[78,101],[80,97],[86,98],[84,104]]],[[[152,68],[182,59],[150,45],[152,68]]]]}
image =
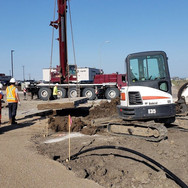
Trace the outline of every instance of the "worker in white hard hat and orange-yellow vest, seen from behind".
{"type": "Polygon", "coordinates": [[[10,124],[17,124],[15,121],[18,104],[20,105],[20,98],[18,95],[18,89],[15,87],[15,78],[10,79],[10,86],[6,89],[6,96],[9,108],[9,120],[10,124]]]}

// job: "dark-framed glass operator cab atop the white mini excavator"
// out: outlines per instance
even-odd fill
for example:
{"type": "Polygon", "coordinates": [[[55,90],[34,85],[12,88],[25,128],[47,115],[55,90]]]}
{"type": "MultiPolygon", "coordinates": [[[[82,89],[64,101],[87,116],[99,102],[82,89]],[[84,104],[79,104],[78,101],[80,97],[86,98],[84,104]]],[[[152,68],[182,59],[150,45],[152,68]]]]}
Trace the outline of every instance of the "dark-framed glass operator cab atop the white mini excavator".
{"type": "Polygon", "coordinates": [[[146,86],[172,94],[166,53],[149,51],[126,58],[128,86],[146,86]]]}

